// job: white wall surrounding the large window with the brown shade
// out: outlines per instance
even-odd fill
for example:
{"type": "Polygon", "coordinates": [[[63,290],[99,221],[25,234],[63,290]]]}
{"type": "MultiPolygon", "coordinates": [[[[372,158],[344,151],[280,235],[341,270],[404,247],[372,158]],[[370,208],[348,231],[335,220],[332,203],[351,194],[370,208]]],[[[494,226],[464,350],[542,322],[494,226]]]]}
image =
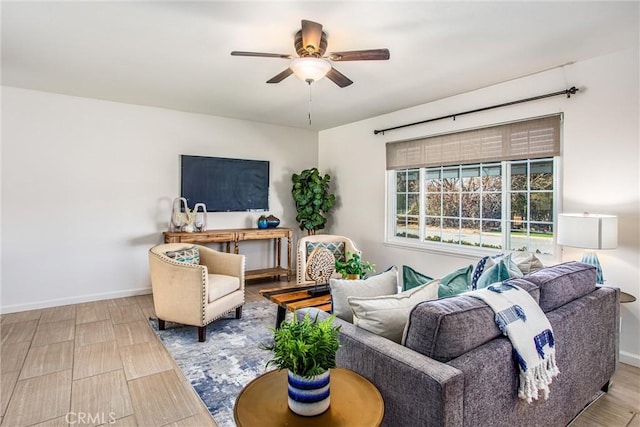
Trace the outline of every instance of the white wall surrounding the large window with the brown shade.
{"type": "MultiPolygon", "coordinates": [[[[560,212],[615,214],[618,248],[601,251],[607,284],[640,296],[638,49],[596,58],[384,116],[320,132],[319,168],[335,178],[339,205],[331,231],[353,238],[380,268],[410,265],[439,277],[475,259],[385,245],[385,143],[546,114],[564,113],[560,212]],[[374,135],[374,129],[504,102],[580,91],[374,135]]],[[[429,88],[417,90],[428,91],[429,88]]],[[[562,260],[578,260],[566,249],[562,260]]],[[[640,366],[640,302],[621,305],[621,360],[640,366]]]]}

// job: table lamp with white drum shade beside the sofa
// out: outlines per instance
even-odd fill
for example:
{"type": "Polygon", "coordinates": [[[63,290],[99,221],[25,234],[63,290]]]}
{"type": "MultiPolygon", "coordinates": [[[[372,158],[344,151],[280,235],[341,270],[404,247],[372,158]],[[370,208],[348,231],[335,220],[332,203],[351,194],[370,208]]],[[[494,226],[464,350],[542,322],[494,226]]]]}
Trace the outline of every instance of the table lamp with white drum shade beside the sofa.
{"type": "Polygon", "coordinates": [[[590,213],[558,215],[558,244],[587,249],[581,262],[596,267],[596,283],[604,284],[595,251],[618,246],[618,217],[590,213]]]}

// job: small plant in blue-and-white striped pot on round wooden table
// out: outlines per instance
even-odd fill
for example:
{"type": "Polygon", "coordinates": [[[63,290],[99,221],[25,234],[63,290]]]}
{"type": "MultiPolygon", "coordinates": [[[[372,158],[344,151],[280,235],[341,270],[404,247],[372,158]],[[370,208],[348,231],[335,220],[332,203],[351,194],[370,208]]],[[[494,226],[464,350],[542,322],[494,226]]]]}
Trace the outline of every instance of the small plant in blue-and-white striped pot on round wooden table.
{"type": "Polygon", "coordinates": [[[267,366],[288,370],[289,408],[298,415],[319,415],[329,408],[329,370],[336,367],[340,347],[340,326],[335,316],[303,320],[293,316],[272,329],[273,343],[265,349],[273,352],[267,366]]]}

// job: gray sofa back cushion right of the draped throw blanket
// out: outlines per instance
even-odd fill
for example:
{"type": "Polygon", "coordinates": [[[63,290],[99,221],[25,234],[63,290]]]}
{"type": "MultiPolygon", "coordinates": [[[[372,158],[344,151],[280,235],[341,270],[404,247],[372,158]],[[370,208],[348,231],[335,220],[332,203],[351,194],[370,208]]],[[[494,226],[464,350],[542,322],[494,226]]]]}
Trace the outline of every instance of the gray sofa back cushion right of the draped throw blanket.
{"type": "Polygon", "coordinates": [[[547,312],[593,292],[596,268],[572,261],[535,271],[525,279],[540,287],[540,308],[547,312]]]}

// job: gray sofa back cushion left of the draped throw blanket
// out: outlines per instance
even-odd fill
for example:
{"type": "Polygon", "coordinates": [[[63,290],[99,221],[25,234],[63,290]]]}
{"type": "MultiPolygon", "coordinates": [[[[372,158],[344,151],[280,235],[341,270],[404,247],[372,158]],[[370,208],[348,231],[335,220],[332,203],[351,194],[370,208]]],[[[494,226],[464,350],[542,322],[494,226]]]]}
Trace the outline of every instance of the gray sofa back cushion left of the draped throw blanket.
{"type": "MultiPolygon", "coordinates": [[[[538,286],[525,279],[510,279],[538,301],[538,286]]],[[[411,310],[403,344],[440,362],[472,350],[501,336],[493,310],[477,298],[464,294],[427,301],[411,310]]]]}

